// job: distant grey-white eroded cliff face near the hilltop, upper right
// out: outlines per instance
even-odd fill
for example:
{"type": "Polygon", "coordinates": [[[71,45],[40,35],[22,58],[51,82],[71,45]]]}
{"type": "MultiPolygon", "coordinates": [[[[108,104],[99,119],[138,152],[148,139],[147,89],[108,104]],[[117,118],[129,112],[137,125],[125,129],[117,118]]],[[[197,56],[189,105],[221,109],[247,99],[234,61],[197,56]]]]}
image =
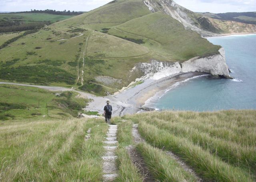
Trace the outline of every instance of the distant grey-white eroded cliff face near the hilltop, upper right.
{"type": "Polygon", "coordinates": [[[256,26],[228,20],[217,20],[196,14],[173,0],[143,0],[151,12],[161,11],[178,20],[186,29],[198,32],[203,37],[218,36],[223,33],[255,32],[256,26]]]}

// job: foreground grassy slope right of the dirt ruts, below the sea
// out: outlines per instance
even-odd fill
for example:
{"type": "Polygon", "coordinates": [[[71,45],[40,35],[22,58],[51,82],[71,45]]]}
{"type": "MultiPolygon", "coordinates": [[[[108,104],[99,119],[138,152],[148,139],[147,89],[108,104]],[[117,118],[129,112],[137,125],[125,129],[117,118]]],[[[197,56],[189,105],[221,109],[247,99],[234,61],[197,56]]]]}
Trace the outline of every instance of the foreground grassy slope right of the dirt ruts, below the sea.
{"type": "Polygon", "coordinates": [[[255,110],[151,112],[127,119],[139,122],[147,142],[176,153],[206,181],[253,181],[255,177],[255,110]],[[204,127],[198,128],[200,124],[204,127]],[[240,142],[231,145],[230,140],[240,142]]]}

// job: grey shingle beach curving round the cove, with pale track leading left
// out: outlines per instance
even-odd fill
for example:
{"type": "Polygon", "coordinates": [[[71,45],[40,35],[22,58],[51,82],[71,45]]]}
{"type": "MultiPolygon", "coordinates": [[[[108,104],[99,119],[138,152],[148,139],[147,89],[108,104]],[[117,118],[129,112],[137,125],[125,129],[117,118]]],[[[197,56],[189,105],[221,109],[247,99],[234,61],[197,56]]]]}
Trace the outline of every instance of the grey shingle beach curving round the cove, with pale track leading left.
{"type": "MultiPolygon", "coordinates": [[[[188,73],[178,73],[170,75],[159,80],[144,80],[142,84],[136,85],[133,88],[127,88],[117,95],[108,96],[95,96],[86,92],[64,88],[60,86],[37,86],[28,84],[18,84],[11,82],[0,82],[0,84],[14,84],[21,86],[32,86],[37,88],[43,88],[50,91],[73,91],[80,94],[82,98],[89,98],[93,100],[89,102],[86,106],[88,111],[96,111],[99,114],[103,114],[103,108],[106,105],[106,100],[110,100],[110,104],[113,108],[112,116],[124,116],[126,114],[136,114],[145,106],[147,100],[154,97],[156,94],[161,92],[166,92],[173,85],[183,82],[184,80],[191,79],[193,77],[206,75],[208,73],[204,72],[188,72],[188,73]]],[[[210,74],[208,74],[210,75],[210,74]]],[[[91,117],[91,116],[90,116],[91,117]]]]}

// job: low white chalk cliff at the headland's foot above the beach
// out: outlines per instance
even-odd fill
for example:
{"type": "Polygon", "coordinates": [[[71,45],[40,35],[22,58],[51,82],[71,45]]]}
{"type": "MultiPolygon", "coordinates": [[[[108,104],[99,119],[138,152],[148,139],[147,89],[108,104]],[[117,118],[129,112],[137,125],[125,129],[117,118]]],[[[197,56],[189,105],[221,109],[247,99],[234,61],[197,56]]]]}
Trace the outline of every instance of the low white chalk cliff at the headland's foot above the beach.
{"type": "Polygon", "coordinates": [[[188,61],[179,62],[160,62],[151,60],[150,63],[138,63],[131,74],[140,72],[143,76],[137,80],[152,79],[158,80],[166,76],[186,72],[206,72],[214,76],[231,78],[226,65],[224,48],[220,48],[220,54],[206,57],[195,57],[188,61]]]}

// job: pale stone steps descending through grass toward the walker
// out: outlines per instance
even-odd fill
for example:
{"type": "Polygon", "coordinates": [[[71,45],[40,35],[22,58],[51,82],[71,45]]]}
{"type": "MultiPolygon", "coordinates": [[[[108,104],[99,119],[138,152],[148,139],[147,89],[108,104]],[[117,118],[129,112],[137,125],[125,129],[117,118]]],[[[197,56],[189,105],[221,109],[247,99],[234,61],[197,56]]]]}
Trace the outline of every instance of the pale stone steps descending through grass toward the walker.
{"type": "Polygon", "coordinates": [[[116,140],[117,125],[109,125],[106,140],[104,142],[104,148],[106,149],[103,159],[103,181],[113,181],[117,174],[115,150],[117,145],[116,140]]]}

